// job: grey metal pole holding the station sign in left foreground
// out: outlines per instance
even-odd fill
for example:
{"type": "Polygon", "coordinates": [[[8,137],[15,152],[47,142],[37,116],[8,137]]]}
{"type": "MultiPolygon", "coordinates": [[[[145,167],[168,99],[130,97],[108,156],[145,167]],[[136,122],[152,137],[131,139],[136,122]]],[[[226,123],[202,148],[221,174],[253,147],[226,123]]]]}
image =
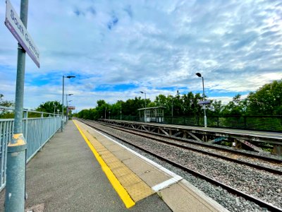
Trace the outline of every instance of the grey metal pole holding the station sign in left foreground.
{"type": "MultiPolygon", "coordinates": [[[[20,1],[20,20],[27,27],[28,0],[20,1]]],[[[5,211],[25,209],[25,151],[23,136],[23,93],[25,85],[25,50],[18,44],[16,100],[13,137],[7,147],[5,211]]]]}

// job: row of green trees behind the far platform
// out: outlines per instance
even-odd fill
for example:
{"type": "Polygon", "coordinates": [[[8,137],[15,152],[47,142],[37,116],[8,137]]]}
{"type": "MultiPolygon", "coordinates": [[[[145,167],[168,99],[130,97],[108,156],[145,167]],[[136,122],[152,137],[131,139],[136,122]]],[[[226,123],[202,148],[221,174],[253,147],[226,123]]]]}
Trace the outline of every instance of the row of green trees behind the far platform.
{"type": "MultiPolygon", "coordinates": [[[[164,106],[164,115],[171,116],[203,116],[204,110],[199,105],[199,101],[203,100],[200,93],[193,94],[189,92],[180,95],[179,92],[175,96],[158,95],[154,101],[146,99],[146,107],[164,106]]],[[[98,100],[97,107],[90,110],[82,110],[78,113],[78,117],[90,117],[90,119],[100,119],[109,116],[111,110],[111,117],[119,116],[139,116],[137,109],[145,107],[145,99],[135,97],[128,99],[125,102],[118,100],[118,102],[110,105],[105,100],[98,100]]],[[[246,99],[242,95],[237,94],[231,102],[223,105],[221,101],[211,100],[211,104],[206,107],[208,117],[214,115],[281,115],[282,114],[282,81],[274,81],[259,88],[256,92],[250,93],[246,99]]]]}

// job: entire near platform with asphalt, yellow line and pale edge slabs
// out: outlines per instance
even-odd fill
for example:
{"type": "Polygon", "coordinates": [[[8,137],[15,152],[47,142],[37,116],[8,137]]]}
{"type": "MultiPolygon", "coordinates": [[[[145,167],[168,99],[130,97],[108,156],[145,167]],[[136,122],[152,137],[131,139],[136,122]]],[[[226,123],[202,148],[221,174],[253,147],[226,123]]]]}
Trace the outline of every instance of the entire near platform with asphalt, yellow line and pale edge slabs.
{"type": "Polygon", "coordinates": [[[74,122],[27,164],[27,211],[227,211],[182,177],[74,122]]]}

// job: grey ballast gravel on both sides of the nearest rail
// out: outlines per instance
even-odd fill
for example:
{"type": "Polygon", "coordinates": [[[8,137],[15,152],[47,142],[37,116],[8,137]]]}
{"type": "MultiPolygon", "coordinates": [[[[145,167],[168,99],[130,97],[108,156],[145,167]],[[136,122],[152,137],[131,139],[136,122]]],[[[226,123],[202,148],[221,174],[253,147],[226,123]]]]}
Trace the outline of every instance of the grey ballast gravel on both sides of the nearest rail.
{"type": "MultiPolygon", "coordinates": [[[[125,133],[124,131],[121,132],[117,129],[111,129],[108,126],[102,126],[99,124],[94,125],[97,128],[108,131],[109,134],[120,136],[130,143],[133,142],[137,146],[142,146],[142,148],[149,151],[154,151],[159,155],[166,156],[166,158],[185,165],[185,167],[201,172],[208,177],[216,179],[224,184],[228,184],[229,186],[245,192],[246,194],[255,196],[257,199],[261,199],[262,201],[273,204],[278,208],[282,208],[282,177],[280,175],[255,170],[252,167],[238,165],[219,158],[215,159],[209,155],[203,155],[202,153],[195,153],[193,151],[183,150],[176,147],[171,148],[169,145],[159,143],[151,139],[144,139],[140,136],[125,133]]],[[[176,172],[176,174],[188,180],[188,182],[192,183],[195,187],[202,190],[202,192],[219,202],[222,206],[228,208],[230,211],[268,211],[266,208],[262,208],[257,204],[243,199],[242,197],[234,196],[221,187],[216,187],[203,179],[194,177],[188,172],[180,170],[177,167],[173,167],[172,165],[149,155],[148,153],[144,153],[138,148],[130,146],[128,143],[118,139],[114,140],[123,143],[123,145],[128,146],[137,153],[154,160],[156,163],[168,168],[168,170],[176,172]]]]}

